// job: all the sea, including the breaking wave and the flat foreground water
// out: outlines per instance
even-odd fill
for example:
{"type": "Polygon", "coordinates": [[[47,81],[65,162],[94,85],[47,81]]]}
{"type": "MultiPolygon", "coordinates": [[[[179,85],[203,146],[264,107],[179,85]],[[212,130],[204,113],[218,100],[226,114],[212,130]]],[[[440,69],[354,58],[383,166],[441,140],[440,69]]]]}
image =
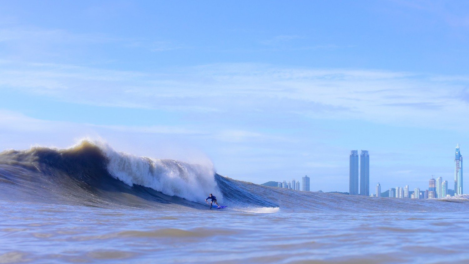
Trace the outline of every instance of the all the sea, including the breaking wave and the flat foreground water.
{"type": "Polygon", "coordinates": [[[0,263],[469,263],[468,204],[264,187],[100,143],[4,151],[0,263]]]}

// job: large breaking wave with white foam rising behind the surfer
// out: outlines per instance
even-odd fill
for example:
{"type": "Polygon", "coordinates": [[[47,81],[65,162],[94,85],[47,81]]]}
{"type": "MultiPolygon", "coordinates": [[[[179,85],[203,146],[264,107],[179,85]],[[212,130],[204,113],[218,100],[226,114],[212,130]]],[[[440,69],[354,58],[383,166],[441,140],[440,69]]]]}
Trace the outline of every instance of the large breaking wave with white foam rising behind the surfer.
{"type": "Polygon", "coordinates": [[[469,196],[411,200],[301,192],[236,181],[212,166],[137,157],[104,143],[0,153],[0,199],[97,207],[206,209],[209,193],[230,210],[468,211],[469,196]]]}

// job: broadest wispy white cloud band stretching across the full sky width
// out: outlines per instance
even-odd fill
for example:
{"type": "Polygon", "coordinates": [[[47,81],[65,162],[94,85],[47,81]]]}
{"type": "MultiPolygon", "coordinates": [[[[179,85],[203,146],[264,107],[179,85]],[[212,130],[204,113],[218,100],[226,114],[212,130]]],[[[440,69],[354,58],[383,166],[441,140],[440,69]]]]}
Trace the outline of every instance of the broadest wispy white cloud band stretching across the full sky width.
{"type": "Polygon", "coordinates": [[[452,121],[447,115],[468,107],[466,97],[454,96],[464,94],[467,87],[462,76],[455,82],[452,76],[249,63],[154,73],[4,60],[0,69],[0,89],[99,106],[206,114],[301,114],[423,126],[429,121],[448,125],[452,121]],[[408,115],[409,108],[413,115],[408,115]]]}

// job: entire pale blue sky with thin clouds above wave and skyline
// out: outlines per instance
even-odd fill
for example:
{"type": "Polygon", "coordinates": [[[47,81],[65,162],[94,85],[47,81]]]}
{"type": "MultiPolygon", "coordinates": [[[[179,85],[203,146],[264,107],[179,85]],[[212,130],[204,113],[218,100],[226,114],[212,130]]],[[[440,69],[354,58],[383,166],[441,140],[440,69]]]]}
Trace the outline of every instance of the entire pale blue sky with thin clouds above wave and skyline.
{"type": "Polygon", "coordinates": [[[81,138],[263,183],[454,179],[466,1],[2,1],[0,148],[81,138]]]}

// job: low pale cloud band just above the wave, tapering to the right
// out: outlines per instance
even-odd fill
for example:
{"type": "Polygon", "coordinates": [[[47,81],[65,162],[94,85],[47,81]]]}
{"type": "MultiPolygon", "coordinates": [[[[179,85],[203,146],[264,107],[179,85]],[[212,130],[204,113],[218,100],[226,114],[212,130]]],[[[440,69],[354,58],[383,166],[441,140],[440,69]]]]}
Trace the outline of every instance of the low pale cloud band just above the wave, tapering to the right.
{"type": "Polygon", "coordinates": [[[143,135],[166,136],[170,138],[196,137],[198,140],[246,143],[255,141],[286,141],[274,135],[267,135],[255,131],[220,128],[214,130],[203,124],[199,125],[151,125],[151,126],[131,126],[131,125],[102,125],[93,123],[76,123],[70,121],[49,121],[32,118],[22,113],[0,109],[0,129],[15,135],[34,135],[42,138],[57,135],[57,142],[68,144],[70,136],[82,137],[92,135],[99,138],[99,135],[136,135],[136,138],[143,135]],[[68,132],[73,131],[73,132],[68,132]]]}

